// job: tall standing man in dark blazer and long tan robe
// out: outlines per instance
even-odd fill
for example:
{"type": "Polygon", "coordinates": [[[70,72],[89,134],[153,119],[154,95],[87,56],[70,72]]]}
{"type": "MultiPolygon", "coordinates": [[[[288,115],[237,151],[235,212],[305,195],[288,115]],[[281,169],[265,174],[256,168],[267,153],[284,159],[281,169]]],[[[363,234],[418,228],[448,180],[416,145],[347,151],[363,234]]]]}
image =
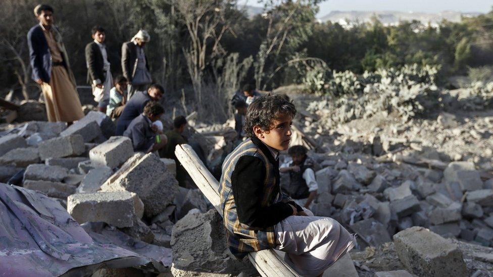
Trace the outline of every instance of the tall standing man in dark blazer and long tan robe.
{"type": "Polygon", "coordinates": [[[48,121],[68,123],[84,117],[62,36],[53,25],[53,8],[38,5],[39,24],[27,33],[32,79],[41,87],[48,121]]]}

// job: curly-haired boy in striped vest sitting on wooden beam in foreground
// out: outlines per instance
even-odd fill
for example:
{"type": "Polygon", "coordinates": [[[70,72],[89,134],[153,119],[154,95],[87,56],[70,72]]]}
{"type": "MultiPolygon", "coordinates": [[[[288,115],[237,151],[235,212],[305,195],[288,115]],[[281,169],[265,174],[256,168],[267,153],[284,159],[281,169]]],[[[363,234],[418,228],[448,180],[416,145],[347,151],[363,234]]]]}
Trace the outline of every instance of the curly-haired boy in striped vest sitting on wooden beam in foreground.
{"type": "Polygon", "coordinates": [[[219,186],[231,253],[275,248],[302,276],[321,276],[354,246],[336,220],[308,216],[279,186],[279,151],[289,147],[296,109],[285,95],[262,96],[248,108],[243,141],[225,159],[219,186]]]}

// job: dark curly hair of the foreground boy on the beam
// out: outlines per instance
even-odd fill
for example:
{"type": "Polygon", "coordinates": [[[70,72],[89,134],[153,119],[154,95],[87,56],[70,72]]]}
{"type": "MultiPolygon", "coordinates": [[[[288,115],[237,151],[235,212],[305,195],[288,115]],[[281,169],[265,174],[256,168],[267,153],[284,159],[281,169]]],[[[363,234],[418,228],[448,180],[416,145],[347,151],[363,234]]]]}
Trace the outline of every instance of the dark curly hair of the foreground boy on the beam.
{"type": "Polygon", "coordinates": [[[283,115],[294,118],[296,107],[284,94],[266,95],[255,99],[247,110],[245,126],[243,127],[248,137],[254,138],[254,126],[259,126],[263,131],[272,129],[272,122],[283,115]]]}

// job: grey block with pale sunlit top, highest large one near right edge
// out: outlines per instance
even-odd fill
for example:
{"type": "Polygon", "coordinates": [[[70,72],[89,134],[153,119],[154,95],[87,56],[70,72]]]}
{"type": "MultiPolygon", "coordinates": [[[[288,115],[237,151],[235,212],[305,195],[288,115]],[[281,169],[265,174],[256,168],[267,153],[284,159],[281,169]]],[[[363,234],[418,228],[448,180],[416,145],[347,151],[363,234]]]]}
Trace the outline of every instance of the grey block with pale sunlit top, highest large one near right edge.
{"type": "Polygon", "coordinates": [[[475,170],[474,164],[467,161],[454,161],[449,163],[443,177],[448,183],[459,183],[462,191],[480,190],[483,182],[479,172],[475,170]]]}

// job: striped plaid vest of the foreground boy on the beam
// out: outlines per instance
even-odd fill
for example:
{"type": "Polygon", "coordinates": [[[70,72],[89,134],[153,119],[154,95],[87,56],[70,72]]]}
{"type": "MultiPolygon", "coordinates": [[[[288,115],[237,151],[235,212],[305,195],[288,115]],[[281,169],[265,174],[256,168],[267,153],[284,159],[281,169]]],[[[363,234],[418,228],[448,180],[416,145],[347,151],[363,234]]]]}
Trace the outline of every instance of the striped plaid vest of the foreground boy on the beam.
{"type": "Polygon", "coordinates": [[[251,228],[241,224],[236,213],[236,205],[231,191],[231,175],[235,165],[241,156],[251,155],[260,158],[266,167],[266,177],[262,185],[264,187],[263,207],[270,206],[274,203],[283,200],[279,187],[279,169],[275,164],[269,161],[266,155],[271,155],[270,152],[262,150],[260,147],[267,149],[265,145],[260,145],[262,142],[256,138],[243,141],[236,149],[231,152],[223,163],[221,181],[219,186],[219,195],[221,197],[221,206],[223,209],[224,225],[228,232],[229,250],[237,258],[243,258],[248,252],[259,251],[276,246],[274,234],[274,226],[266,229],[251,228]],[[260,145],[260,147],[259,147],[260,145]],[[276,172],[277,171],[277,172],[276,172]]]}

